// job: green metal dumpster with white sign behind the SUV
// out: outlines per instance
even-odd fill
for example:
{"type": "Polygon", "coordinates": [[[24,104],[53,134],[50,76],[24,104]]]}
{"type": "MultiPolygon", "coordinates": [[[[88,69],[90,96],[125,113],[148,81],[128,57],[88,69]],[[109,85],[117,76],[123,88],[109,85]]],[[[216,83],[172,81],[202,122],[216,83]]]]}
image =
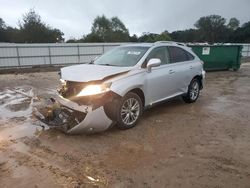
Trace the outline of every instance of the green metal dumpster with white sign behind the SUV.
{"type": "Polygon", "coordinates": [[[189,45],[204,62],[204,69],[238,70],[241,64],[241,45],[189,45]]]}

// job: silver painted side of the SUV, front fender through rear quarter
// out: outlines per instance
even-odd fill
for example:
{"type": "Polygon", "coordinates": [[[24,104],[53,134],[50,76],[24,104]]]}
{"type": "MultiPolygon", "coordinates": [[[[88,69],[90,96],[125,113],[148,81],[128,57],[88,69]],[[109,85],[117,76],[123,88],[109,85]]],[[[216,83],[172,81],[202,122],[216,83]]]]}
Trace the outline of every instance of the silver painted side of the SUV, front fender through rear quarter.
{"type": "MultiPolygon", "coordinates": [[[[153,49],[151,48],[151,51],[153,49]]],[[[194,57],[191,61],[153,67],[151,72],[146,68],[137,67],[126,76],[116,79],[111,85],[111,90],[123,97],[133,89],[141,89],[145,97],[145,106],[184,94],[191,80],[202,75],[202,64],[196,55],[194,57]]]]}

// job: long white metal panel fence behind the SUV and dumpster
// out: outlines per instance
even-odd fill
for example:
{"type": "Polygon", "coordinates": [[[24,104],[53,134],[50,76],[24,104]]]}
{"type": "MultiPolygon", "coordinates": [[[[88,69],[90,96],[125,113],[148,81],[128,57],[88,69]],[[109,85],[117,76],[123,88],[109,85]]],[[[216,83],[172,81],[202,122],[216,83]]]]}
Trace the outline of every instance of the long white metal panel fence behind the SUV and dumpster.
{"type": "MultiPolygon", "coordinates": [[[[96,56],[122,43],[77,44],[0,44],[0,69],[57,66],[88,63],[96,56]]],[[[232,44],[233,45],[233,44],[232,44]]],[[[249,59],[250,44],[243,45],[242,56],[249,59]]]]}

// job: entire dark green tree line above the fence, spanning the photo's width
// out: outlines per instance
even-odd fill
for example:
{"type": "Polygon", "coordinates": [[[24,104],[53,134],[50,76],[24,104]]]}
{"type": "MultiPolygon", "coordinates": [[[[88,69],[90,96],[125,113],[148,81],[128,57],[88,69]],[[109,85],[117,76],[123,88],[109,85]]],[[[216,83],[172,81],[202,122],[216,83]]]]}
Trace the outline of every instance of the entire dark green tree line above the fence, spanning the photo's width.
{"type": "MultiPolygon", "coordinates": [[[[80,40],[70,39],[67,42],[250,42],[250,22],[239,26],[237,18],[226,19],[219,15],[201,17],[195,23],[195,29],[164,31],[160,34],[143,33],[141,36],[129,35],[129,31],[118,17],[97,16],[92,24],[91,33],[80,40]]],[[[52,43],[64,41],[59,29],[51,28],[34,11],[30,10],[19,22],[19,28],[12,28],[0,18],[0,42],[15,43],[52,43]]]]}

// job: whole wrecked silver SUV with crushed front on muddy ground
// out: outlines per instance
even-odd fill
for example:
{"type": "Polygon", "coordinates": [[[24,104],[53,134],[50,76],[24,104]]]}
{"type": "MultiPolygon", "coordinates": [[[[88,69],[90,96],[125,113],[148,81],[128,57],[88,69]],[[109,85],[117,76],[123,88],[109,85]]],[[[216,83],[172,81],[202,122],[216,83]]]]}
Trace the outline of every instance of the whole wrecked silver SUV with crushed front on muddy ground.
{"type": "Polygon", "coordinates": [[[159,102],[176,96],[195,102],[204,78],[203,62],[183,44],[119,46],[90,64],[62,68],[52,115],[43,121],[67,133],[128,129],[159,102]]]}

